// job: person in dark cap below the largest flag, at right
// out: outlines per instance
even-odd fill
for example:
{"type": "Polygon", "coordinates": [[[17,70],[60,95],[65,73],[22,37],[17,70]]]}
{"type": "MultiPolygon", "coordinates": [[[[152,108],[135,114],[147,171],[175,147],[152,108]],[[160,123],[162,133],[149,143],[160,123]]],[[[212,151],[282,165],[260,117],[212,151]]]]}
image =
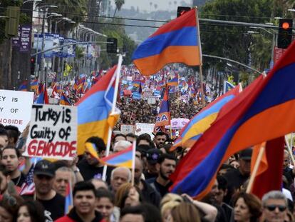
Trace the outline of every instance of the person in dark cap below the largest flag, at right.
{"type": "Polygon", "coordinates": [[[224,174],[228,181],[229,189],[238,189],[247,181],[251,173],[252,148],[246,148],[239,152],[239,169],[233,168],[224,174]]]}

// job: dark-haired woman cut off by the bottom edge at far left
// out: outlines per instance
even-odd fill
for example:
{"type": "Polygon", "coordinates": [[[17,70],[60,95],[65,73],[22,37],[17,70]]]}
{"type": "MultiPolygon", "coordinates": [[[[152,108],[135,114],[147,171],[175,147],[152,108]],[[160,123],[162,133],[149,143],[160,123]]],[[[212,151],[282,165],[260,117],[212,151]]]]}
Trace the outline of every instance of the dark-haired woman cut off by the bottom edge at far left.
{"type": "Polygon", "coordinates": [[[45,222],[44,209],[38,201],[26,201],[17,212],[17,222],[45,222]]]}

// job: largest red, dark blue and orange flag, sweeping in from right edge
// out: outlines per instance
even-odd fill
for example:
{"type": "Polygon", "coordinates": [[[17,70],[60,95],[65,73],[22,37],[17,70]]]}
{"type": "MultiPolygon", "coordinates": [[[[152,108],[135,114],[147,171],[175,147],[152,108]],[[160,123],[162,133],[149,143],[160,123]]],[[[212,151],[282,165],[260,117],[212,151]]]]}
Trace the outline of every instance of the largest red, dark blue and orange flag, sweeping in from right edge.
{"type": "Polygon", "coordinates": [[[202,198],[229,156],[295,131],[294,53],[295,43],[265,79],[259,76],[219,111],[217,120],[172,174],[171,191],[202,198]]]}

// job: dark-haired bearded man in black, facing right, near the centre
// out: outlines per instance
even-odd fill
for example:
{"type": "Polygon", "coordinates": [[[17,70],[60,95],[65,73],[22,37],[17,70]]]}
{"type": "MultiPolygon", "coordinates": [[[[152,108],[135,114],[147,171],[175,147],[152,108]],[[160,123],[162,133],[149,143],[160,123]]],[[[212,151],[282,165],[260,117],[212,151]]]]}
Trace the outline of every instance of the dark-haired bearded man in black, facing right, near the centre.
{"type": "Polygon", "coordinates": [[[150,178],[147,182],[155,188],[163,197],[168,193],[169,187],[172,185],[169,177],[175,171],[176,158],[171,154],[164,153],[157,161],[156,168],[158,171],[156,178],[150,178]]]}

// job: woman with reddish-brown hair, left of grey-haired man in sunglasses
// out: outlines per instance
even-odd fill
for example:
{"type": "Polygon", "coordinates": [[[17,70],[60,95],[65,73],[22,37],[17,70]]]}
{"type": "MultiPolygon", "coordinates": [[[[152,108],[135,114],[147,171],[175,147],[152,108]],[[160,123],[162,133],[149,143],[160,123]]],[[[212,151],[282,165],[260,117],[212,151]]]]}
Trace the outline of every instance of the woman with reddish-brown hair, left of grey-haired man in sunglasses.
{"type": "Polygon", "coordinates": [[[258,222],[262,215],[262,203],[251,193],[238,193],[234,201],[234,221],[258,222]]]}

